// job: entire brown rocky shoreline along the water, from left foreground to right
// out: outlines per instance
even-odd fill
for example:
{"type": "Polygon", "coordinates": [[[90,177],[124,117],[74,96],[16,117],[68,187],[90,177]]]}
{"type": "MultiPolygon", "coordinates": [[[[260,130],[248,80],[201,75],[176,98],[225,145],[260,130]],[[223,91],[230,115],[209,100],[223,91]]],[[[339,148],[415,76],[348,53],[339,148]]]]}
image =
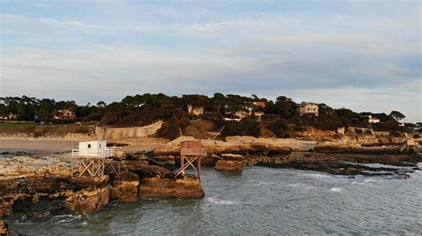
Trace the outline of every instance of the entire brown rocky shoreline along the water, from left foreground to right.
{"type": "MultiPolygon", "coordinates": [[[[71,177],[69,153],[0,159],[0,216],[2,219],[44,221],[56,215],[95,212],[111,201],[201,198],[205,193],[199,178],[190,175],[174,177],[174,169],[180,164],[177,151],[183,140],[185,138],[158,146],[149,153],[117,152],[119,158],[115,161],[123,160],[128,171],[116,175],[108,168],[103,177],[71,177]]],[[[295,148],[282,142],[265,143],[262,140],[202,142],[209,150],[204,165],[220,171],[265,166],[310,169],[350,177],[406,178],[419,170],[417,163],[422,162],[420,154],[399,154],[395,147],[316,146],[312,151],[306,150],[309,143],[300,142],[296,142],[295,148]],[[381,166],[370,166],[369,163],[381,166]]]]}

